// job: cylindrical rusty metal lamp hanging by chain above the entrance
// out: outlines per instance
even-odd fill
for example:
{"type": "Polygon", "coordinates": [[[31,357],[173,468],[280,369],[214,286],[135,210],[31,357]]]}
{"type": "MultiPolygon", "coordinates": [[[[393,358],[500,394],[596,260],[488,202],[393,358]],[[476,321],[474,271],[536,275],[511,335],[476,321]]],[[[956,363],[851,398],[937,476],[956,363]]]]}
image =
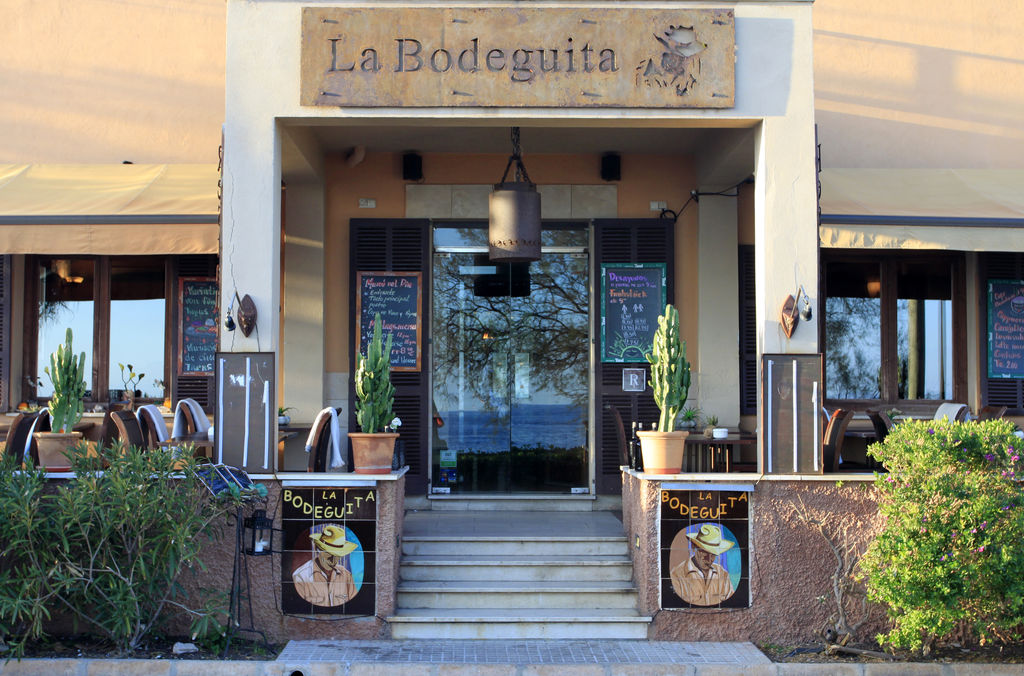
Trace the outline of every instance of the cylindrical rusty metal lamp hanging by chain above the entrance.
{"type": "Polygon", "coordinates": [[[519,150],[519,127],[512,127],[512,156],[489,202],[488,258],[526,262],[541,259],[541,194],[529,180],[519,150]],[[515,165],[515,180],[506,182],[515,165]]]}

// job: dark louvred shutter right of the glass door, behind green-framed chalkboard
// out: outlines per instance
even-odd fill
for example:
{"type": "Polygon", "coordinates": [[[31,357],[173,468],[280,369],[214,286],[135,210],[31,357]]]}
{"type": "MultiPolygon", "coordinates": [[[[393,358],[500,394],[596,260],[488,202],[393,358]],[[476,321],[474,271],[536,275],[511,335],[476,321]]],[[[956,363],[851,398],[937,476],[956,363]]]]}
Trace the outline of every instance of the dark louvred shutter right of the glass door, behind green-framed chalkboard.
{"type": "MultiPolygon", "coordinates": [[[[600,293],[598,281],[601,279],[601,263],[666,263],[668,276],[668,301],[674,302],[675,270],[673,264],[675,225],[671,220],[637,219],[637,220],[595,220],[594,221],[594,255],[592,257],[595,280],[594,293],[600,293]]],[[[600,302],[600,299],[598,299],[600,302]]],[[[601,312],[594,312],[594,336],[600,340],[601,312]]],[[[600,345],[597,345],[600,354],[600,345]]],[[[623,369],[636,368],[635,364],[597,365],[598,376],[595,382],[597,408],[597,491],[601,495],[622,492],[622,475],[618,471],[618,439],[615,430],[614,417],[609,406],[618,409],[626,425],[627,439],[630,435],[630,423],[640,421],[650,425],[657,420],[658,411],[654,398],[648,391],[642,393],[623,391],[623,369]]],[[[642,365],[646,367],[646,364],[642,365]]]]}

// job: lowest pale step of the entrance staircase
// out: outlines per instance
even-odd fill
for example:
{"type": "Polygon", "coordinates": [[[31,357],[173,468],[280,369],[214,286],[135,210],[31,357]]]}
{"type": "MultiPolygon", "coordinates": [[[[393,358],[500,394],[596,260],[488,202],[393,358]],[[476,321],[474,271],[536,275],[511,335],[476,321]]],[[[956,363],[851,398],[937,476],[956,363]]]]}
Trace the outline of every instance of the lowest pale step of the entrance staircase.
{"type": "Polygon", "coordinates": [[[645,639],[650,620],[623,609],[451,609],[439,614],[400,608],[387,622],[396,639],[645,639]]]}

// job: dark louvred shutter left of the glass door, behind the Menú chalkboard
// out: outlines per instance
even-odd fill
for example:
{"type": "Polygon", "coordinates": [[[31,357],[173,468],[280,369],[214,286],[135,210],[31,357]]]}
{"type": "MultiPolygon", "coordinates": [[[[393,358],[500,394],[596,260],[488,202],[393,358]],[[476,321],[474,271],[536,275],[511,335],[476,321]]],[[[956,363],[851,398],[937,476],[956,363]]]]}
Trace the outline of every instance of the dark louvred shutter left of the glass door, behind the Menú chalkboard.
{"type": "MultiPolygon", "coordinates": [[[[419,372],[391,374],[394,384],[394,414],[401,418],[399,443],[406,453],[409,473],[406,474],[406,493],[424,495],[427,491],[427,451],[430,432],[430,392],[427,390],[430,369],[430,221],[392,219],[353,219],[349,228],[351,246],[349,255],[349,316],[351,329],[348,336],[349,370],[355,374],[357,334],[355,316],[355,273],[357,271],[420,271],[423,272],[423,306],[420,308],[422,342],[422,368],[419,372]]],[[[355,402],[355,385],[349,380],[348,400],[355,402]]],[[[348,428],[357,429],[355,408],[349,406],[348,428]]]]}

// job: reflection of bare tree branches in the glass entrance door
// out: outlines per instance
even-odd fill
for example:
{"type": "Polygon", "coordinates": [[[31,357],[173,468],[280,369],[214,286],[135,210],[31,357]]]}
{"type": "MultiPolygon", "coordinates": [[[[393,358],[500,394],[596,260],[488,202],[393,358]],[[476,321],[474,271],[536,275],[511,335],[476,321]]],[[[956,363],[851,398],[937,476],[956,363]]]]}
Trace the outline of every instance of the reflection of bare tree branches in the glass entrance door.
{"type": "Polygon", "coordinates": [[[531,397],[544,390],[566,404],[584,406],[589,358],[587,259],[545,255],[529,266],[530,295],[519,298],[474,295],[472,278],[460,273],[460,267],[467,265],[473,265],[472,254],[435,258],[432,339],[438,391],[457,387],[462,369],[465,392],[481,403],[479,408],[507,416],[507,394],[495,393],[494,387],[511,386],[512,379],[496,377],[494,371],[514,364],[510,353],[525,352],[531,397]]]}

